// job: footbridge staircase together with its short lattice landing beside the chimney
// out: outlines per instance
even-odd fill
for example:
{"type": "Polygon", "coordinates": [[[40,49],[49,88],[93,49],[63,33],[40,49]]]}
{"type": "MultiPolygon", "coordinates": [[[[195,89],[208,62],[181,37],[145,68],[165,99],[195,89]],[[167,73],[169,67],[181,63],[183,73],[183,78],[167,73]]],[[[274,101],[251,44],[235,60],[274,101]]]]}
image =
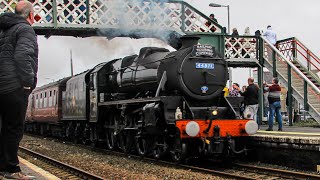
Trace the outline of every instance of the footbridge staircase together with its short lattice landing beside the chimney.
{"type": "MultiPolygon", "coordinates": [[[[294,98],[320,123],[320,59],[297,38],[280,40],[274,46],[263,36],[226,35],[225,56],[229,66],[255,67],[258,63],[267,68],[288,89],[289,106],[294,98]]],[[[262,79],[259,86],[263,88],[262,79]]],[[[289,111],[292,115],[292,108],[289,111]]]]}

